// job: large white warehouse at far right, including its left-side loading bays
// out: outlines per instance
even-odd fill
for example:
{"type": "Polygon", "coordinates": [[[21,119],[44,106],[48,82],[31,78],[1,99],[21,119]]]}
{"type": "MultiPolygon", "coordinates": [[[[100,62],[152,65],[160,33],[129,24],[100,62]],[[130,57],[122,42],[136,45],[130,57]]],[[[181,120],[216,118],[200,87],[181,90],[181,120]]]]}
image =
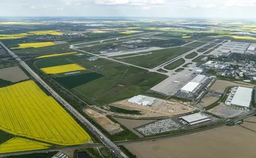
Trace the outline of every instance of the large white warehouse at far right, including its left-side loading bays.
{"type": "Polygon", "coordinates": [[[248,110],[252,101],[252,90],[246,87],[232,88],[225,104],[248,110]]]}

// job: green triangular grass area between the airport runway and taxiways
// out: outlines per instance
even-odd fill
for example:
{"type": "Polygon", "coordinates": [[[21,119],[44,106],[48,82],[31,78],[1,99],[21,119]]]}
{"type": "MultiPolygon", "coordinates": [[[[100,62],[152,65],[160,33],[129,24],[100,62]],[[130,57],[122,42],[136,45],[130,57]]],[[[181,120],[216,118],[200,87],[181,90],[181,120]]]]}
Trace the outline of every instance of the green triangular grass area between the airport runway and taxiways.
{"type": "MultiPolygon", "coordinates": [[[[127,62],[129,64],[134,64],[141,66],[143,68],[155,68],[164,62],[170,61],[171,59],[178,57],[194,48],[191,47],[177,47],[177,48],[168,48],[163,50],[152,51],[152,54],[138,56],[138,57],[129,57],[126,59],[118,59],[122,62],[127,62]]],[[[149,52],[148,52],[149,53],[149,52]]]]}

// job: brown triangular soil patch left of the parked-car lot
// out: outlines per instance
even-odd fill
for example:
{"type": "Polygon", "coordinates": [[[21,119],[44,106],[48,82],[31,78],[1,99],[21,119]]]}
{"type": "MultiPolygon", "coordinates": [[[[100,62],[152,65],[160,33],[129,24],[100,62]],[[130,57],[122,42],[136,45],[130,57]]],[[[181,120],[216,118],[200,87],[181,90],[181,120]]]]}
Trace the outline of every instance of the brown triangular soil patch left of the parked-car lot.
{"type": "Polygon", "coordinates": [[[122,124],[123,126],[127,127],[127,129],[129,129],[130,131],[132,131],[132,133],[136,134],[137,136],[139,136],[140,138],[143,138],[144,136],[140,133],[138,133],[137,131],[134,130],[134,128],[139,127],[139,126],[143,126],[144,124],[148,124],[150,122],[154,122],[156,120],[131,120],[131,119],[121,119],[118,117],[113,117],[113,119],[115,119],[116,121],[118,121],[120,124],[122,124]]]}

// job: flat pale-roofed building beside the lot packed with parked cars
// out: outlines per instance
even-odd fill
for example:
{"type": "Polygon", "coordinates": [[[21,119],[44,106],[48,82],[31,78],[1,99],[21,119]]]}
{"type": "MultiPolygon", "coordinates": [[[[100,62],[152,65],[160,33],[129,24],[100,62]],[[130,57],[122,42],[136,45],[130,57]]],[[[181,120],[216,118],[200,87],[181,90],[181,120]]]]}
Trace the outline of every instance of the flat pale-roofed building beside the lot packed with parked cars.
{"type": "Polygon", "coordinates": [[[191,126],[211,120],[209,116],[203,115],[202,113],[193,113],[191,115],[179,117],[179,119],[183,120],[184,122],[188,123],[191,126]]]}

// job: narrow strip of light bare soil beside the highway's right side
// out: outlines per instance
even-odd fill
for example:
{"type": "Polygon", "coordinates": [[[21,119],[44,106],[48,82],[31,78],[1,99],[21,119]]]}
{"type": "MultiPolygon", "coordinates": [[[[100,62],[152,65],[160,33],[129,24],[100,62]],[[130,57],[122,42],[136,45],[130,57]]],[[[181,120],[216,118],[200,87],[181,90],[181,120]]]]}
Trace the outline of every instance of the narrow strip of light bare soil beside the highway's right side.
{"type": "Polygon", "coordinates": [[[124,131],[119,124],[115,124],[115,122],[112,122],[107,117],[102,115],[101,113],[98,113],[95,110],[92,110],[90,108],[84,109],[84,113],[92,117],[93,120],[95,120],[100,126],[102,126],[106,131],[108,131],[109,134],[116,134],[121,131],[124,131]]]}

